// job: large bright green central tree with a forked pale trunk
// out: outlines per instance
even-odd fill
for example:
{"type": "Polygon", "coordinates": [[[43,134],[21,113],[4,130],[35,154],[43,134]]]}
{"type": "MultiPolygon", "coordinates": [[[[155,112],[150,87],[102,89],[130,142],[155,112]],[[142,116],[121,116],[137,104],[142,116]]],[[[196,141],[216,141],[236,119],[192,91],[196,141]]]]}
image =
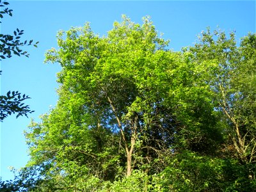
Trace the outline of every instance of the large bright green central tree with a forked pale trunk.
{"type": "Polygon", "coordinates": [[[83,161],[100,179],[106,179],[106,172],[101,177],[97,167],[107,167],[112,175],[123,168],[127,176],[139,168],[156,173],[163,170],[166,156],[181,150],[178,140],[185,130],[196,132],[197,126],[204,131],[203,125],[214,125],[213,120],[203,122],[213,110],[209,88],[199,76],[190,75],[199,75],[202,67],[195,67],[188,55],[166,49],[168,42],[157,35],[148,17],[142,25],[123,17],[103,37],[88,24],[60,31],[58,45],[60,49],[47,52],[46,61],[62,67],[60,100],[42,124],[31,124],[31,164],[47,162],[60,174],[66,169],[63,161],[83,161]],[[195,101],[207,102],[201,107],[203,115],[195,101]],[[81,137],[86,137],[84,143],[75,141],[81,137]],[[109,160],[99,164],[102,157],[109,160]]]}

